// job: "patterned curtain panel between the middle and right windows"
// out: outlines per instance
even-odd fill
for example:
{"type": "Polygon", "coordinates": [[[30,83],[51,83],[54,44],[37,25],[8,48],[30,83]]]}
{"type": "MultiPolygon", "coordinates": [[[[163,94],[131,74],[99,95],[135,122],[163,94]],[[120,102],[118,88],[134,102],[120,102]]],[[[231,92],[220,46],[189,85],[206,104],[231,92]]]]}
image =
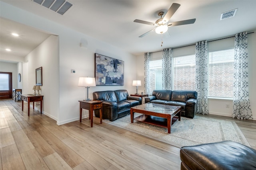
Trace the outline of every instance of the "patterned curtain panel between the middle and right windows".
{"type": "Polygon", "coordinates": [[[197,113],[208,114],[208,52],[207,41],[196,43],[197,113]]]}

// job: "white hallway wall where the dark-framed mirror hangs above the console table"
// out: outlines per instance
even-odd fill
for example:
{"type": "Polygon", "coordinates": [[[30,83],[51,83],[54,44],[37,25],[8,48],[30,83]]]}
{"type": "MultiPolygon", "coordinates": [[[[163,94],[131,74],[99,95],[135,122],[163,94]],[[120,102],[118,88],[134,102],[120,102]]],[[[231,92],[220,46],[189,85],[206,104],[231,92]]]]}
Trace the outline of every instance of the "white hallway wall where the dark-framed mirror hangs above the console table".
{"type": "MultiPolygon", "coordinates": [[[[33,86],[36,85],[36,68],[42,66],[42,86],[41,94],[43,99],[43,113],[54,120],[58,120],[59,106],[59,67],[58,67],[58,36],[50,35],[38,47],[31,51],[23,64],[23,75],[27,75],[22,90],[23,94],[33,94],[33,86]],[[26,68],[26,69],[25,69],[26,68]]],[[[36,106],[37,109],[40,106],[36,106]]]]}

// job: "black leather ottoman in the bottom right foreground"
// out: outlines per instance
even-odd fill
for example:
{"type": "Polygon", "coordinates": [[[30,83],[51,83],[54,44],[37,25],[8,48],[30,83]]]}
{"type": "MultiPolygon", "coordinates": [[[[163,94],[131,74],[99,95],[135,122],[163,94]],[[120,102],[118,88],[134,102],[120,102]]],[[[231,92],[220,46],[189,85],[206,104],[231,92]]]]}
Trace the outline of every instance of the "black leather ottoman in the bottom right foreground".
{"type": "Polygon", "coordinates": [[[256,150],[233,141],[180,149],[181,170],[256,170],[256,150]]]}

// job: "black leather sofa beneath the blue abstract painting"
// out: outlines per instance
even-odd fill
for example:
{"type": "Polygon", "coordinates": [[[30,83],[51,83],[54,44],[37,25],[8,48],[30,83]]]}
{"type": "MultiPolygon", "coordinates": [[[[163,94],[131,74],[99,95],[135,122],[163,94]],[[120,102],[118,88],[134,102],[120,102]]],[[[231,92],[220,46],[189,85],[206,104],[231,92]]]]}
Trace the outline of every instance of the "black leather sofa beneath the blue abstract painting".
{"type": "MultiPolygon", "coordinates": [[[[129,96],[127,90],[93,92],[93,100],[102,100],[102,118],[114,121],[130,114],[130,108],[140,105],[142,98],[129,96]]],[[[96,117],[100,111],[94,110],[96,117]]]]}

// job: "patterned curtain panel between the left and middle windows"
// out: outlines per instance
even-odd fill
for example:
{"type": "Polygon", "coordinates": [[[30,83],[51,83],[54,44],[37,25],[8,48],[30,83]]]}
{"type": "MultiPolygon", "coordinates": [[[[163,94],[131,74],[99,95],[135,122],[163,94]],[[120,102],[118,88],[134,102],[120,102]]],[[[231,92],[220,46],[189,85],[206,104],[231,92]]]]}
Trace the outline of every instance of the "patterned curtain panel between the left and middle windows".
{"type": "Polygon", "coordinates": [[[162,89],[172,90],[172,49],[164,49],[162,59],[162,89]]]}

